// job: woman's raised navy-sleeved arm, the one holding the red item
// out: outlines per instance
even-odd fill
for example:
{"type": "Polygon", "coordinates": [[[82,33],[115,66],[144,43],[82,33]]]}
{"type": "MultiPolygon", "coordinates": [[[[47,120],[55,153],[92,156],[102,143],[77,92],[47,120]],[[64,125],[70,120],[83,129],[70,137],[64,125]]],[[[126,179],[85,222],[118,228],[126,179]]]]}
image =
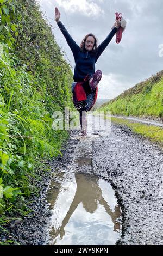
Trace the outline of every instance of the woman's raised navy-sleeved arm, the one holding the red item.
{"type": "Polygon", "coordinates": [[[97,47],[97,59],[99,56],[101,56],[102,52],[105,50],[105,48],[109,45],[109,42],[113,38],[113,36],[116,34],[118,28],[120,27],[120,20],[116,21],[114,24],[114,28],[112,31],[109,33],[109,35],[106,37],[106,39],[97,47]]]}

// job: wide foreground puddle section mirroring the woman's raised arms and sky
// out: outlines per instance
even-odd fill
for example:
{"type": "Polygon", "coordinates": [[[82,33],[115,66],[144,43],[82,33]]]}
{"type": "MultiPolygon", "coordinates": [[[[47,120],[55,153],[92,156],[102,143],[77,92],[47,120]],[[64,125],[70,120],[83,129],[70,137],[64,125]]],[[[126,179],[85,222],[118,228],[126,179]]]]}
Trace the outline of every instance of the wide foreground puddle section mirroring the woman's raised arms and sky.
{"type": "Polygon", "coordinates": [[[65,173],[47,200],[53,209],[50,245],[115,245],[120,238],[115,192],[97,176],[65,173]]]}

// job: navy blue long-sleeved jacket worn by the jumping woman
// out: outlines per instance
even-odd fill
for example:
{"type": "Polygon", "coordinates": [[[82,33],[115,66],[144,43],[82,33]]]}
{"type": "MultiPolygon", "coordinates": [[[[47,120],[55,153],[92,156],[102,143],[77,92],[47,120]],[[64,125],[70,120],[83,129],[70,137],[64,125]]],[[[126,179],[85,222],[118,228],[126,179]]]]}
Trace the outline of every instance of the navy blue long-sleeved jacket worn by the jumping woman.
{"type": "Polygon", "coordinates": [[[93,50],[82,50],[72,39],[71,35],[68,33],[67,29],[61,23],[61,21],[58,22],[58,26],[62,34],[65,36],[67,44],[71,48],[76,63],[73,75],[74,82],[83,81],[87,74],[91,76],[95,73],[95,63],[117,32],[117,28],[112,29],[106,39],[97,47],[97,52],[95,53],[93,50]]]}

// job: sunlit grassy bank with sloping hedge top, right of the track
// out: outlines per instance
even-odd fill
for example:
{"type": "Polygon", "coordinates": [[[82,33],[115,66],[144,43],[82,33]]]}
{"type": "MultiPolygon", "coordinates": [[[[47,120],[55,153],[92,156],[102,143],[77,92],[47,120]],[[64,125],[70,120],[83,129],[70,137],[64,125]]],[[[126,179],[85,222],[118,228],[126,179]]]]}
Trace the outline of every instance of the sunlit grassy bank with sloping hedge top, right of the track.
{"type": "Polygon", "coordinates": [[[112,115],[163,118],[163,70],[101,107],[112,115]]]}

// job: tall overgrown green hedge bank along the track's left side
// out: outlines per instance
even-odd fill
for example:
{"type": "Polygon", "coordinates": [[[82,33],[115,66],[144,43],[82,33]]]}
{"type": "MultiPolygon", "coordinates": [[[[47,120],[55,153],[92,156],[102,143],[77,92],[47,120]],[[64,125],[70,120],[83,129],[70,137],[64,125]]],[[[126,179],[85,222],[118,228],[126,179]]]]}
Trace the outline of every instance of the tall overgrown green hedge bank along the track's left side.
{"type": "Polygon", "coordinates": [[[60,154],[67,131],[53,112],[73,108],[72,72],[34,0],[0,0],[0,229],[28,215],[26,198],[60,154]],[[8,216],[6,218],[5,216],[8,216]]]}

